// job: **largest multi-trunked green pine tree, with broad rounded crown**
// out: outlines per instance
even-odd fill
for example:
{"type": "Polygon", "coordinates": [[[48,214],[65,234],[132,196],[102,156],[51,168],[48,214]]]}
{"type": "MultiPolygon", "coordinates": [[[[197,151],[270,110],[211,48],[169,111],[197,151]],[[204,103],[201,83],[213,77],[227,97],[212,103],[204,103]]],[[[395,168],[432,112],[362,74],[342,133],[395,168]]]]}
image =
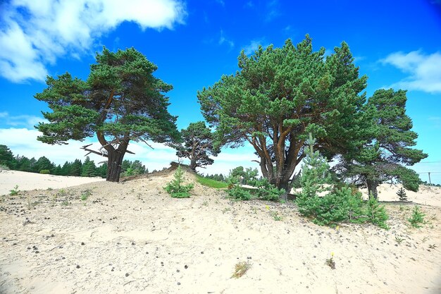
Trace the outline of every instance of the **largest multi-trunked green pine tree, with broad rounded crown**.
{"type": "Polygon", "coordinates": [[[361,145],[367,78],[359,78],[346,43],[324,54],[313,51],[308,35],[297,46],[287,39],[251,56],[242,51],[240,71],[197,94],[220,140],[232,147],[250,142],[263,176],[278,188],[287,188],[304,157],[308,133],[328,158],[361,145]]]}

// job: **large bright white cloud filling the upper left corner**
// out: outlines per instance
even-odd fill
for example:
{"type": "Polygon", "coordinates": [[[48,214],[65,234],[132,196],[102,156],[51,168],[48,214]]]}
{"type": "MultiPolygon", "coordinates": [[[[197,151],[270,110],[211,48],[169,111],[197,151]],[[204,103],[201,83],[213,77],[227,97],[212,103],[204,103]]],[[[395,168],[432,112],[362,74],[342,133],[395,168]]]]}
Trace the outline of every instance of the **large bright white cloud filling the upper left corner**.
{"type": "Polygon", "coordinates": [[[47,64],[78,58],[125,21],[173,29],[187,14],[180,0],[13,0],[0,11],[0,75],[12,82],[44,80],[47,64]]]}

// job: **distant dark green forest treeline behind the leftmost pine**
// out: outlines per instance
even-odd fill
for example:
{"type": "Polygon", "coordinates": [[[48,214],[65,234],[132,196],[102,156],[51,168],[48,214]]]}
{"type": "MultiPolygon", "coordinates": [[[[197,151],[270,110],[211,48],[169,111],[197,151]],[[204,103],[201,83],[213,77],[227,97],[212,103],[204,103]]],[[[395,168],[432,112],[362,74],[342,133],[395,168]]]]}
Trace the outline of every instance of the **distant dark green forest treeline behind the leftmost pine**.
{"type": "MultiPolygon", "coordinates": [[[[0,166],[5,166],[8,169],[15,171],[28,171],[31,173],[50,173],[55,176],[85,176],[94,177],[99,176],[106,178],[107,163],[97,166],[93,160],[86,157],[82,162],[80,159],[74,161],[66,161],[63,166],[56,165],[47,157],[40,157],[31,159],[16,155],[6,145],[0,145],[0,166]]],[[[124,160],[121,167],[121,176],[133,176],[141,173],[146,173],[148,170],[141,161],[124,160]]]]}

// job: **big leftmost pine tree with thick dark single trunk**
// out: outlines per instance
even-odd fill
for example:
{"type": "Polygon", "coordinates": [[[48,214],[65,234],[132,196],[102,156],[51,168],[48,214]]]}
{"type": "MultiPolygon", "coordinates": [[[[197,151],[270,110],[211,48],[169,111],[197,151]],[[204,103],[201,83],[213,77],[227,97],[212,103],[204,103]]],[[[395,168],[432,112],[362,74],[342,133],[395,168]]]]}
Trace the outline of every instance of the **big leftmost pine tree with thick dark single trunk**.
{"type": "MultiPolygon", "coordinates": [[[[170,103],[164,95],[173,87],[155,78],[157,67],[133,48],[104,48],[96,59],[85,81],[70,73],[46,79],[46,89],[35,98],[46,102],[51,112],[43,112],[49,123],[36,126],[43,134],[37,139],[66,144],[97,135],[108,157],[107,180],[118,181],[131,140],[179,140],[176,117],[168,113],[170,103]]],[[[81,169],[70,173],[80,176],[81,169]]]]}

